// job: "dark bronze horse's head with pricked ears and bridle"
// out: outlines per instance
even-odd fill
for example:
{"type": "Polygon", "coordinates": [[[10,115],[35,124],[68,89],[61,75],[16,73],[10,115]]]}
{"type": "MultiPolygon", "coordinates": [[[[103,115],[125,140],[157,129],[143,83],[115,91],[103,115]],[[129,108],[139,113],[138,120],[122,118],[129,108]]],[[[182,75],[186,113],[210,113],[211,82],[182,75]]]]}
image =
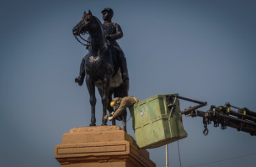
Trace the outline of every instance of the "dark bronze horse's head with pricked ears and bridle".
{"type": "Polygon", "coordinates": [[[94,17],[91,11],[88,13],[84,11],[82,20],[77,23],[77,25],[73,28],[73,34],[79,35],[88,31],[88,33],[92,32],[95,29],[94,17]]]}

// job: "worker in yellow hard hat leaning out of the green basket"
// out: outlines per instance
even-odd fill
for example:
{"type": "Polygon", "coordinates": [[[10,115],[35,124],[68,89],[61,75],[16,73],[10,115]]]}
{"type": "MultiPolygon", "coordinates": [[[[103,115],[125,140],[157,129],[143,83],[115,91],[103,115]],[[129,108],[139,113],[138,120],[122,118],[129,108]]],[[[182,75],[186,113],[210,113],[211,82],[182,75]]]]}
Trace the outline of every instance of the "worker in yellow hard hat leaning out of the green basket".
{"type": "Polygon", "coordinates": [[[108,117],[109,121],[122,114],[126,107],[131,107],[137,102],[141,101],[136,97],[115,97],[113,101],[110,102],[110,106],[115,108],[115,112],[111,113],[112,117],[108,117]]]}

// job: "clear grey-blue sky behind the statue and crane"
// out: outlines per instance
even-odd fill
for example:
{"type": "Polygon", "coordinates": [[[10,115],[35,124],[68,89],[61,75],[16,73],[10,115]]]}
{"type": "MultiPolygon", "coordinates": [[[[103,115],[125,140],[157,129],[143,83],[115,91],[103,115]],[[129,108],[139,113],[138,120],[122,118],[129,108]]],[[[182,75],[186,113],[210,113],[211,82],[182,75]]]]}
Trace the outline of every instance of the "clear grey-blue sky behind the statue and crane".
{"type": "MultiPolygon", "coordinates": [[[[57,167],[54,146],[71,128],[90,123],[86,86],[74,83],[87,50],[72,28],[90,9],[114,10],[124,37],[129,94],[144,100],[179,93],[216,106],[230,102],[256,112],[256,2],[188,1],[1,1],[0,3],[0,166],[57,167]]],[[[97,93],[97,125],[102,105],[97,93]]],[[[192,105],[180,101],[181,109],[192,105]]],[[[179,141],[188,167],[245,154],[205,167],[256,164],[256,137],[209,126],[201,117],[183,117],[188,138],[179,141]]],[[[109,123],[111,124],[111,123],[109,123]]],[[[121,126],[119,122],[118,125],[121,126]]],[[[128,133],[134,137],[131,119],[128,133]]],[[[169,166],[179,166],[177,142],[168,144],[169,166]]],[[[148,149],[157,166],[165,147],[148,149]]]]}

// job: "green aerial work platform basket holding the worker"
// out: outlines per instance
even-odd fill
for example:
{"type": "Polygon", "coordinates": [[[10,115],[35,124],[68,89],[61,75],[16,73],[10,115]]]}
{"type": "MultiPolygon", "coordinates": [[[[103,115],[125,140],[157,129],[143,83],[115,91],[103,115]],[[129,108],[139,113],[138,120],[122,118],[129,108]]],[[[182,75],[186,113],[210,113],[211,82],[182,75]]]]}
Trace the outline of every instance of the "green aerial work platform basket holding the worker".
{"type": "Polygon", "coordinates": [[[183,128],[179,100],[169,95],[156,95],[138,102],[130,107],[132,127],[136,143],[140,149],[153,149],[186,138],[183,128]],[[172,117],[168,120],[171,110],[168,105],[175,102],[172,117]]]}

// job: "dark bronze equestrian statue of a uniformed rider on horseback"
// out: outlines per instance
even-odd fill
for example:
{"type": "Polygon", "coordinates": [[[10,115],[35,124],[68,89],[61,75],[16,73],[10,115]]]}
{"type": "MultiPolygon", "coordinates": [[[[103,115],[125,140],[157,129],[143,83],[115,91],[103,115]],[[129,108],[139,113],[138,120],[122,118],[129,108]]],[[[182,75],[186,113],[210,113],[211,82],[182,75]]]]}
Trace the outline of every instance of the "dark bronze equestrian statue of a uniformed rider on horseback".
{"type": "MultiPolygon", "coordinates": [[[[123,34],[120,26],[117,23],[112,23],[113,10],[105,8],[103,11],[104,24],[101,24],[99,18],[93,16],[91,11],[83,13],[82,20],[72,29],[73,35],[83,37],[81,34],[89,34],[89,40],[83,39],[88,42],[88,55],[83,59],[84,65],[80,70],[80,74],[84,75],[79,79],[85,77],[88,87],[91,104],[91,123],[90,126],[96,126],[95,118],[95,86],[98,88],[103,105],[102,125],[107,125],[107,120],[104,119],[106,110],[113,112],[114,109],[110,107],[109,102],[114,97],[128,97],[129,91],[129,76],[125,60],[125,55],[120,49],[119,44],[115,41],[120,39],[123,34]]],[[[79,39],[77,39],[83,44],[79,39]]],[[[81,81],[79,85],[82,85],[81,81]]],[[[126,132],[126,116],[127,111],[121,114],[120,119],[123,121],[123,130],[126,132]]],[[[112,120],[115,125],[115,119],[112,120]]]]}

